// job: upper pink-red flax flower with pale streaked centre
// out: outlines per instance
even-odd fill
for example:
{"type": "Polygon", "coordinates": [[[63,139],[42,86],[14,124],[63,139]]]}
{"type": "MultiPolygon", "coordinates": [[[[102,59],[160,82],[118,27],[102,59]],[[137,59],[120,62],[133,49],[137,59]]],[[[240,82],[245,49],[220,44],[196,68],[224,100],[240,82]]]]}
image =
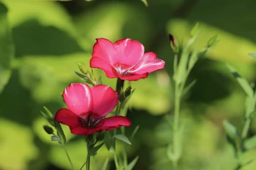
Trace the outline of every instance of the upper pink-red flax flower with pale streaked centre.
{"type": "Polygon", "coordinates": [[[144,53],[144,46],[136,40],[124,38],[114,44],[105,38],[96,40],[90,66],[103,70],[108,78],[136,81],[165,67],[157,54],[144,53]]]}

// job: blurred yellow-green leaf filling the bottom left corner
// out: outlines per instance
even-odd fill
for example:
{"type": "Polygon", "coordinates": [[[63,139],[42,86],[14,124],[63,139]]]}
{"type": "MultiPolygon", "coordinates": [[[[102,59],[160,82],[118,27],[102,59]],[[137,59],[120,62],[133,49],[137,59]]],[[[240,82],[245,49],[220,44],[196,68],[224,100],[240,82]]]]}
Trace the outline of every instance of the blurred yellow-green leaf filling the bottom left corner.
{"type": "Polygon", "coordinates": [[[33,132],[28,126],[0,118],[0,143],[0,169],[25,170],[28,161],[39,157],[33,132]]]}

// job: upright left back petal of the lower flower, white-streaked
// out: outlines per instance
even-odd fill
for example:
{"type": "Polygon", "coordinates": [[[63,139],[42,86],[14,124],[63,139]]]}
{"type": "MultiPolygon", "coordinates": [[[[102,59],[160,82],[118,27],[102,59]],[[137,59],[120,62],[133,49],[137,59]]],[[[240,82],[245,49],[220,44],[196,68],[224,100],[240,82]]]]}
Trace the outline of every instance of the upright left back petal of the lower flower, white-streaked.
{"type": "Polygon", "coordinates": [[[88,113],[93,109],[91,90],[86,84],[70,84],[65,88],[63,98],[68,108],[76,115],[88,113]]]}

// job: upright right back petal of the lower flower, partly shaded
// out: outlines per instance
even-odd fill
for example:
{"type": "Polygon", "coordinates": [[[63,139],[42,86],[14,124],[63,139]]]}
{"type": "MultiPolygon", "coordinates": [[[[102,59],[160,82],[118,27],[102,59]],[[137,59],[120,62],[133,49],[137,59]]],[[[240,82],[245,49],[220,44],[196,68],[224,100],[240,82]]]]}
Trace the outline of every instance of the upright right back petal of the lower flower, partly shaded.
{"type": "Polygon", "coordinates": [[[105,117],[113,111],[118,103],[117,93],[106,85],[97,85],[91,88],[93,95],[93,113],[105,117]]]}

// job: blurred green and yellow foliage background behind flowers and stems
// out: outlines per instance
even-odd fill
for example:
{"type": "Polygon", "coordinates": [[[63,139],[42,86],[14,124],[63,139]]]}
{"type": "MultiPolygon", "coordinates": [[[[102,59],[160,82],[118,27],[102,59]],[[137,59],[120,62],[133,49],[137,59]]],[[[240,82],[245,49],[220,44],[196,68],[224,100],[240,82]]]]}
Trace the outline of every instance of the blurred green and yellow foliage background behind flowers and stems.
{"type": "MultiPolygon", "coordinates": [[[[180,170],[231,170],[233,150],[225,139],[223,119],[242,126],[245,94],[225,67],[235,66],[250,82],[256,81],[255,0],[0,0],[0,169],[66,170],[70,169],[64,151],[50,142],[42,125],[47,124],[39,111],[45,105],[52,112],[65,107],[63,89],[80,82],[73,73],[77,62],[89,61],[95,38],[112,42],[121,38],[139,40],[145,51],[154,51],[166,61],[164,70],[147,79],[131,82],[135,93],[129,102],[132,126],[140,125],[129,160],[139,155],[134,170],[171,170],[166,147],[171,132],[165,115],[172,113],[173,53],[169,33],[181,42],[198,21],[202,29],[198,45],[218,34],[221,40],[196,64],[191,73],[195,86],[182,103],[185,123],[184,153],[180,170]]],[[[103,83],[115,87],[115,79],[103,83]]],[[[76,169],[86,159],[82,136],[71,135],[67,149],[76,169]],[[84,149],[83,149],[84,148],[84,149]]],[[[256,134],[256,122],[249,135],[256,134]]],[[[92,170],[101,169],[112,154],[102,147],[93,158],[92,170]]],[[[244,161],[255,159],[256,150],[244,161]]],[[[114,170],[113,161],[109,170],[114,170]]],[[[243,170],[256,169],[252,162],[243,170]]]]}

